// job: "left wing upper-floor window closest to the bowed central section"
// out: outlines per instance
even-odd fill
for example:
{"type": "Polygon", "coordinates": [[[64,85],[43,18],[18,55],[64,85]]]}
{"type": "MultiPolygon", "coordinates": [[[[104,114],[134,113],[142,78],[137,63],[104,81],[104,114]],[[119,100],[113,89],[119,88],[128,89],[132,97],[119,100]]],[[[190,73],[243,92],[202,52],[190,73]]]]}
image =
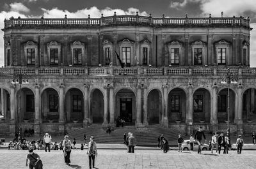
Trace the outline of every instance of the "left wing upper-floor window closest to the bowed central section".
{"type": "Polygon", "coordinates": [[[74,41],[71,44],[72,50],[72,64],[73,65],[83,65],[84,64],[84,43],[80,41],[74,41]]]}

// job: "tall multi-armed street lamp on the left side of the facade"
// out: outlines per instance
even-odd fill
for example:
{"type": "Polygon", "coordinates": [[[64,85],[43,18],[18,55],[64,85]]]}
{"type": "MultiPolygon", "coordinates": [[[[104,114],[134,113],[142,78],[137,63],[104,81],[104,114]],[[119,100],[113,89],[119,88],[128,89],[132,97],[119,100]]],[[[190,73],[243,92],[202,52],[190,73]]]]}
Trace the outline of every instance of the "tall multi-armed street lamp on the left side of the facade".
{"type": "Polygon", "coordinates": [[[15,73],[13,75],[13,80],[11,84],[19,84],[19,98],[20,98],[20,105],[19,105],[19,134],[21,135],[21,85],[22,84],[29,84],[28,79],[24,79],[27,77],[25,73],[22,73],[21,68],[19,69],[19,73],[15,73]]]}

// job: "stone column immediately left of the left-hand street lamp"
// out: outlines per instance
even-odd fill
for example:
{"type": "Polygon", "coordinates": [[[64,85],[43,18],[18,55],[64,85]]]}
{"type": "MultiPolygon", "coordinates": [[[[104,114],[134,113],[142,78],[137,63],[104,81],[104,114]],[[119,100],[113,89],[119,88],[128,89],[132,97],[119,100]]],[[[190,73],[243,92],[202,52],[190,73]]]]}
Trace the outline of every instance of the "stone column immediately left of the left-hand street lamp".
{"type": "Polygon", "coordinates": [[[10,112],[11,112],[11,118],[10,118],[10,134],[11,136],[15,135],[15,85],[11,85],[11,96],[10,96],[10,112]]]}

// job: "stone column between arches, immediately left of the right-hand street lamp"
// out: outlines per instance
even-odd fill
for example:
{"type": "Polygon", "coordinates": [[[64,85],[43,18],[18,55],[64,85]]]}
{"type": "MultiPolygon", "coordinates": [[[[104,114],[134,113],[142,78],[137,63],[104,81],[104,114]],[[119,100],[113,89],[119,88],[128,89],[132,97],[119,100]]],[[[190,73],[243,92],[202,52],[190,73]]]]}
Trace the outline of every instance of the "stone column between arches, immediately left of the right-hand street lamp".
{"type": "Polygon", "coordinates": [[[218,102],[217,102],[217,85],[212,86],[212,99],[211,99],[211,125],[212,132],[218,129],[218,102]]]}

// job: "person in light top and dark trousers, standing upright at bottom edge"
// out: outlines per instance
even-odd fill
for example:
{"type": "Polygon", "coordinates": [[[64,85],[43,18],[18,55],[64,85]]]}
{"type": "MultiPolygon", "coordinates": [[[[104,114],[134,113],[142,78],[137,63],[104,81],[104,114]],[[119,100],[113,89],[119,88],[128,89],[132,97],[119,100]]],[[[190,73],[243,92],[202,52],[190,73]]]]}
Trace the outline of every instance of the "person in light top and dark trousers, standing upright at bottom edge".
{"type": "Polygon", "coordinates": [[[98,152],[97,152],[97,145],[96,142],[93,141],[94,137],[91,136],[90,137],[90,142],[88,143],[88,149],[87,149],[87,153],[88,157],[89,157],[89,168],[92,169],[92,167],[95,167],[95,156],[98,156],[98,152]]]}

